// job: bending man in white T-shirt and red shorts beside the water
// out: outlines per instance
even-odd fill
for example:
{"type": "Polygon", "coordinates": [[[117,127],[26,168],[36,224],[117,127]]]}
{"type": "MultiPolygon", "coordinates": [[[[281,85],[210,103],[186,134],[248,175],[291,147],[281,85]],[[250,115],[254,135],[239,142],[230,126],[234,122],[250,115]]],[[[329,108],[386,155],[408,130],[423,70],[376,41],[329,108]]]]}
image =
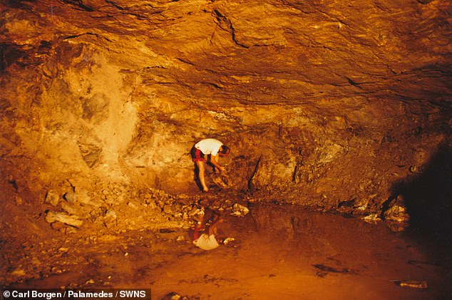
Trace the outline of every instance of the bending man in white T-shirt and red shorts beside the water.
{"type": "Polygon", "coordinates": [[[200,180],[203,192],[209,190],[205,184],[205,163],[207,161],[210,162],[213,165],[214,172],[222,172],[225,168],[218,164],[218,157],[228,155],[229,152],[230,149],[226,145],[223,145],[219,140],[215,140],[215,138],[200,140],[200,142],[193,146],[192,160],[196,164],[197,176],[200,180]],[[205,158],[206,156],[207,160],[205,158]]]}

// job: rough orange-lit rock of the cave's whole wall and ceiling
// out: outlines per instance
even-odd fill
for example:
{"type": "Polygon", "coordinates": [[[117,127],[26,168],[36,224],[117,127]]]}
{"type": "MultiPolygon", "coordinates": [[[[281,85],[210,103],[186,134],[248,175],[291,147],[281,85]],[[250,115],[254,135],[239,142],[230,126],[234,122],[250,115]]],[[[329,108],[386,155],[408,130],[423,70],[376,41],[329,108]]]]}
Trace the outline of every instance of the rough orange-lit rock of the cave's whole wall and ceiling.
{"type": "MultiPolygon", "coordinates": [[[[0,9],[1,201],[31,219],[128,227],[151,208],[157,224],[155,193],[199,200],[190,148],[206,137],[232,148],[227,197],[381,217],[450,157],[448,1],[0,9]]],[[[452,214],[449,195],[432,214],[452,214]]]]}

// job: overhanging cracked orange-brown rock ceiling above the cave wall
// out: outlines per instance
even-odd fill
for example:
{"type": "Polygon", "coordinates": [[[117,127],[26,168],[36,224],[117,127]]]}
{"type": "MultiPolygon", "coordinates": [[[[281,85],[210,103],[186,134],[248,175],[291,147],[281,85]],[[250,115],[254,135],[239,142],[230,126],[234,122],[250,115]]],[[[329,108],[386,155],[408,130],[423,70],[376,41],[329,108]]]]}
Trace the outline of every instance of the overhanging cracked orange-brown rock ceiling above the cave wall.
{"type": "Polygon", "coordinates": [[[101,53],[207,107],[441,101],[450,13],[447,1],[6,1],[3,68],[101,53]]]}

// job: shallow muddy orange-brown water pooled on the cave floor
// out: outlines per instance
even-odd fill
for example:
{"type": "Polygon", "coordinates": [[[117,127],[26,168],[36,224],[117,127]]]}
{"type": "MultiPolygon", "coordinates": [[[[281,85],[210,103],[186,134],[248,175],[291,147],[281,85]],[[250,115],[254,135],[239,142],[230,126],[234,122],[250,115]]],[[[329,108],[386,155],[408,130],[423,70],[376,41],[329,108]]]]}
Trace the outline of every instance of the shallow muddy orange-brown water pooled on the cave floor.
{"type": "Polygon", "coordinates": [[[451,298],[450,253],[383,223],[278,205],[225,220],[220,231],[235,241],[212,251],[193,247],[186,231],[110,235],[61,257],[61,274],[21,286],[150,288],[153,299],[451,298]]]}

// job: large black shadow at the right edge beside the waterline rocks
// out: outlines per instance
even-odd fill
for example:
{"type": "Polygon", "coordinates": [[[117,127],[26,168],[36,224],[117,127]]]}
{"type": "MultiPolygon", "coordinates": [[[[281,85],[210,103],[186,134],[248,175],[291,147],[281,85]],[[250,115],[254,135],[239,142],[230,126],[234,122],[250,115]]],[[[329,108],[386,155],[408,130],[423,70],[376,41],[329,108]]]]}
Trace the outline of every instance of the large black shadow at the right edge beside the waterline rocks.
{"type": "Polygon", "coordinates": [[[409,231],[452,247],[452,149],[441,145],[422,172],[397,182],[394,197],[403,195],[410,215],[409,231]]]}

